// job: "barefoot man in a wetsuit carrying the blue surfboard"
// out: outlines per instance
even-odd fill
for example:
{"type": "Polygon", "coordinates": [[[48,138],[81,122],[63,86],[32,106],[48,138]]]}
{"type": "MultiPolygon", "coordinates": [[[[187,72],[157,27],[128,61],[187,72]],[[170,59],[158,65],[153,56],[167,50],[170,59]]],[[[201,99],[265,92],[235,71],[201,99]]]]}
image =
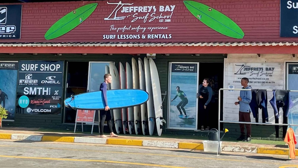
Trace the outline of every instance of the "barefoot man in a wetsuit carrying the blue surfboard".
{"type": "Polygon", "coordinates": [[[108,138],[103,134],[103,127],[105,120],[108,123],[108,127],[110,129],[110,137],[118,137],[118,135],[114,134],[113,132],[113,125],[112,125],[112,117],[111,117],[111,112],[110,112],[110,107],[108,106],[108,98],[107,98],[107,90],[108,90],[108,83],[112,82],[112,76],[111,74],[105,74],[103,76],[105,81],[100,84],[100,91],[103,94],[103,102],[105,104],[105,110],[99,110],[100,114],[100,138],[108,138]]]}

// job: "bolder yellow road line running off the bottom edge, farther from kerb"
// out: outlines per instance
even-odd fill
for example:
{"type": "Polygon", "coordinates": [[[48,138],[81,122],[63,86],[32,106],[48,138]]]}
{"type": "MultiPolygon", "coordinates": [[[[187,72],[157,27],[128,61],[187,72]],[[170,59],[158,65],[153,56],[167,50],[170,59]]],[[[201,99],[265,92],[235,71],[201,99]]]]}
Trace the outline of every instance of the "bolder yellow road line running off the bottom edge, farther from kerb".
{"type": "Polygon", "coordinates": [[[22,159],[43,159],[43,160],[56,160],[56,161],[86,161],[86,162],[106,162],[106,163],[118,163],[118,164],[133,164],[141,166],[154,166],[154,167],[170,167],[170,168],[187,168],[178,166],[167,166],[159,164],[145,164],[145,163],[133,163],[133,162],[122,162],[122,161],[103,161],[103,160],[87,160],[87,159],[67,159],[67,158],[42,158],[42,157],[26,157],[26,156],[6,156],[0,155],[3,158],[22,158],[22,159]]]}

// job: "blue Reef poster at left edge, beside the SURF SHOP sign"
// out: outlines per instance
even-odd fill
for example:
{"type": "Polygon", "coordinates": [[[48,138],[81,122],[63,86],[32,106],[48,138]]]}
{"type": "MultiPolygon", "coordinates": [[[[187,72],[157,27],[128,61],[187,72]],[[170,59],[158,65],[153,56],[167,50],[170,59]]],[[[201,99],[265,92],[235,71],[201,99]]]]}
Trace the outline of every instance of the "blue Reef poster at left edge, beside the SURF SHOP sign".
{"type": "Polygon", "coordinates": [[[8,111],[3,121],[14,120],[18,61],[0,61],[0,77],[0,104],[8,111]]]}

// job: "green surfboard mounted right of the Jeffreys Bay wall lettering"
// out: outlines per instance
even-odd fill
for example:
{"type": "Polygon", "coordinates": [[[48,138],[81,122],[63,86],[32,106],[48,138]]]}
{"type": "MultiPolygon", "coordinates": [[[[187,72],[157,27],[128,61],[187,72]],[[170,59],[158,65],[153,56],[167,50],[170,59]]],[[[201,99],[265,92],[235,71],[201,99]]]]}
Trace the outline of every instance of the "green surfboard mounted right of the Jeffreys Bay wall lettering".
{"type": "Polygon", "coordinates": [[[244,33],[232,19],[223,13],[195,1],[183,1],[186,8],[211,29],[232,38],[242,39],[244,33]]]}

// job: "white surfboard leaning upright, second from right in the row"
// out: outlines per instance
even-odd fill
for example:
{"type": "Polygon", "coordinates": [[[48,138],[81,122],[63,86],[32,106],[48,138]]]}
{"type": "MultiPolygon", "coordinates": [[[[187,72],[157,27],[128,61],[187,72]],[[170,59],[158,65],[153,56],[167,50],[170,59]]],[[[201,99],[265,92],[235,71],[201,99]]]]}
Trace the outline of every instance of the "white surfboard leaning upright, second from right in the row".
{"type": "Polygon", "coordinates": [[[149,94],[149,99],[147,101],[148,129],[149,129],[149,135],[153,135],[153,131],[155,127],[155,112],[154,112],[152,84],[151,84],[151,76],[150,76],[150,65],[149,65],[149,60],[146,57],[144,58],[144,67],[145,67],[146,92],[149,94]]]}

